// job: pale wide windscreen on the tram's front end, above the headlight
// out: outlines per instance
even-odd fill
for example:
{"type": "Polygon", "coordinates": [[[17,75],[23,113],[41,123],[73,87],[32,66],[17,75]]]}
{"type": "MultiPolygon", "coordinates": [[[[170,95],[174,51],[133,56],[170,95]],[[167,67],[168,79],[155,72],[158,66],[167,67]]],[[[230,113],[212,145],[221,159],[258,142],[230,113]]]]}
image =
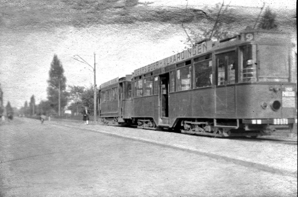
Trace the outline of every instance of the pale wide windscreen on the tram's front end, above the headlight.
{"type": "Polygon", "coordinates": [[[277,45],[258,46],[260,81],[289,80],[289,48],[277,45]]]}

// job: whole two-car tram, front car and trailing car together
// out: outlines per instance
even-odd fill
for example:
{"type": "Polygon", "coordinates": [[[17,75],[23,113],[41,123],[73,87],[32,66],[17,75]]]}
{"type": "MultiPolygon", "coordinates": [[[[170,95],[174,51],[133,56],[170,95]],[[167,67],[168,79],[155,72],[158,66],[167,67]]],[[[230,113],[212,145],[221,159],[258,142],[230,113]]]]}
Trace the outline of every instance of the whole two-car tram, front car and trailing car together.
{"type": "Polygon", "coordinates": [[[102,84],[99,91],[105,123],[212,136],[292,130],[297,51],[287,34],[245,30],[219,42],[196,43],[102,84]]]}

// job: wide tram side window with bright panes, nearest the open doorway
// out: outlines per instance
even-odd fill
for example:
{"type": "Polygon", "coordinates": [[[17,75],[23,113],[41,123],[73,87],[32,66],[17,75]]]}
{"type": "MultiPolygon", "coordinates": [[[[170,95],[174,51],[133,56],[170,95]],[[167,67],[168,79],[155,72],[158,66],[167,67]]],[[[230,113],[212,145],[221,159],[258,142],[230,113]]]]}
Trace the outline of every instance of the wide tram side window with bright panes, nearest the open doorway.
{"type": "Polygon", "coordinates": [[[191,66],[177,69],[176,91],[189,90],[191,84],[191,66]]]}

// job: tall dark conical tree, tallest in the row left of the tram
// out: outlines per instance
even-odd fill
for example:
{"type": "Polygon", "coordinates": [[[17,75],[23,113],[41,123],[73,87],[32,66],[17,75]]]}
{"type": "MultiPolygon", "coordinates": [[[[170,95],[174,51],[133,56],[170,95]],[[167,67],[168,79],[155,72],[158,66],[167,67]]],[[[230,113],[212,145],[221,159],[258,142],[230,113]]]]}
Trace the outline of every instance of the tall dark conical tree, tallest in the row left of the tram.
{"type": "Polygon", "coordinates": [[[48,100],[51,107],[61,115],[61,109],[67,105],[68,93],[66,92],[66,77],[62,63],[55,54],[51,63],[48,79],[48,100]]]}

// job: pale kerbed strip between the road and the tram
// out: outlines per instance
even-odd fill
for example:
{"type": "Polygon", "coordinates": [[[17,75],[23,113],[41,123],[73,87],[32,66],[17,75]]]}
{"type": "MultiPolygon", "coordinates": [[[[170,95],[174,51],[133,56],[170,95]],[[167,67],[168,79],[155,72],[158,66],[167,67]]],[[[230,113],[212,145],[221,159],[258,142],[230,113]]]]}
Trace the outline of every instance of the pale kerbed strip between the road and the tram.
{"type": "Polygon", "coordinates": [[[94,122],[89,125],[84,125],[82,121],[71,120],[54,120],[48,123],[159,144],[215,159],[224,159],[237,165],[297,177],[297,135],[296,138],[278,135],[257,139],[212,138],[167,131],[104,126],[94,122]]]}

